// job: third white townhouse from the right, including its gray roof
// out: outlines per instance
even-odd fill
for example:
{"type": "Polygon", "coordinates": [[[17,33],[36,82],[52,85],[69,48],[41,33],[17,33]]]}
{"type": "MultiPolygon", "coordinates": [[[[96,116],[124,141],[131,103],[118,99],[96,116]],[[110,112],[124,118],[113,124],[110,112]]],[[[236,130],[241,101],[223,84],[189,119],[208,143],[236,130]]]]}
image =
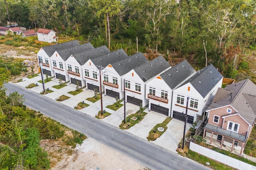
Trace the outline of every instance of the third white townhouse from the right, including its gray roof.
{"type": "Polygon", "coordinates": [[[170,67],[168,61],[159,56],[126,73],[123,76],[126,92],[125,100],[134,105],[142,103],[142,107],[145,107],[148,104],[148,100],[146,100],[146,83],[170,67]]]}

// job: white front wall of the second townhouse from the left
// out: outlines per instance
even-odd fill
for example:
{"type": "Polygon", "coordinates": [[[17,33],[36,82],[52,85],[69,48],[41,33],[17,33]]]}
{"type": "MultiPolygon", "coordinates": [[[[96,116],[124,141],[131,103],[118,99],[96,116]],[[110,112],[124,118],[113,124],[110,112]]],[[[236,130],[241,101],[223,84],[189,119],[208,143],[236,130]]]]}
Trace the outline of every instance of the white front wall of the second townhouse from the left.
{"type": "Polygon", "coordinates": [[[53,55],[50,57],[50,59],[51,59],[52,70],[54,71],[54,76],[56,77],[56,73],[65,75],[66,81],[68,81],[69,75],[66,69],[66,62],[62,59],[62,57],[58,54],[58,52],[55,51],[53,55]],[[53,61],[56,61],[56,67],[53,66],[53,61]],[[59,64],[60,62],[63,63],[63,69],[60,68],[60,64],[59,64]]]}

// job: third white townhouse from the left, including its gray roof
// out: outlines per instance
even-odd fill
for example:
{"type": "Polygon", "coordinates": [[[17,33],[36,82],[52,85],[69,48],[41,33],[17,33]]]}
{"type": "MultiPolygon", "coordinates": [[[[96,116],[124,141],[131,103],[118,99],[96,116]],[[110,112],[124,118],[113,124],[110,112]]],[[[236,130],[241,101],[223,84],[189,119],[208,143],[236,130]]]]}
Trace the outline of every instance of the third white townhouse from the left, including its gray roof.
{"type": "MultiPolygon", "coordinates": [[[[92,48],[87,51],[82,51],[80,53],[75,53],[70,55],[66,60],[67,74],[69,76],[69,81],[72,84],[79,85],[81,87],[90,88],[90,82],[88,83],[84,79],[84,64],[92,58],[98,57],[110,53],[109,49],[104,45],[97,48],[92,48]],[[88,83],[88,84],[87,84],[88,83]]],[[[92,74],[92,73],[91,73],[92,74]]]]}

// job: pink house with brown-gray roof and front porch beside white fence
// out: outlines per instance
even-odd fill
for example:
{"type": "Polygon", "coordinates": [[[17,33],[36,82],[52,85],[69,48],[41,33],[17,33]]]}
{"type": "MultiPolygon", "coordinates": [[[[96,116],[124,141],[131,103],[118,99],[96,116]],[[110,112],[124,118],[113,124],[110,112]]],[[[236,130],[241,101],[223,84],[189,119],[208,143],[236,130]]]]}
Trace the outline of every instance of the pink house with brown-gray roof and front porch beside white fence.
{"type": "Polygon", "coordinates": [[[255,103],[256,85],[249,79],[219,88],[206,111],[207,143],[242,155],[255,123],[255,103]]]}

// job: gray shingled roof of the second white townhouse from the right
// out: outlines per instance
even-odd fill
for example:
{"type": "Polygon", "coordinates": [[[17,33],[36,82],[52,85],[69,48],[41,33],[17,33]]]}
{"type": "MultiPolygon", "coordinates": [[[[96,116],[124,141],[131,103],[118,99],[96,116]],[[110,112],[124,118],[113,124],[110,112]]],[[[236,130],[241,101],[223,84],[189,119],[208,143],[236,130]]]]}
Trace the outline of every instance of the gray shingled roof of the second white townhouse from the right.
{"type": "Polygon", "coordinates": [[[194,73],[196,73],[196,70],[188,63],[188,61],[183,60],[162,73],[160,76],[171,89],[174,89],[194,73]]]}

